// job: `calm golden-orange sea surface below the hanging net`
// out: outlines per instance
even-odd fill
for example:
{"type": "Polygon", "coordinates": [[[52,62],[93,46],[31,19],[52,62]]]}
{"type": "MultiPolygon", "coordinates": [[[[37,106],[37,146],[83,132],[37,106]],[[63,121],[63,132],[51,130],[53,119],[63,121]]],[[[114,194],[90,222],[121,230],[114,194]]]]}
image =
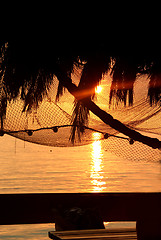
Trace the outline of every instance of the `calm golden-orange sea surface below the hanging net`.
{"type": "MultiPolygon", "coordinates": [[[[99,141],[52,148],[0,138],[0,193],[156,191],[161,191],[159,161],[116,157],[99,141]]],[[[53,229],[53,224],[0,226],[0,239],[48,239],[53,229]]]]}

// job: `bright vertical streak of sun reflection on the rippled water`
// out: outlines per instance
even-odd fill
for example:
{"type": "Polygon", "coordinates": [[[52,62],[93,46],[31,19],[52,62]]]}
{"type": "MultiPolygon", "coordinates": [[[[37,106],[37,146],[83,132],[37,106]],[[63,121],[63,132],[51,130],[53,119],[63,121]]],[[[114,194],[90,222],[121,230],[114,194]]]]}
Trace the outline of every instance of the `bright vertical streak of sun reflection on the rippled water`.
{"type": "Polygon", "coordinates": [[[103,176],[103,154],[102,154],[102,147],[101,147],[101,141],[100,134],[99,133],[93,133],[94,142],[92,144],[92,162],[91,162],[91,183],[93,185],[93,192],[102,192],[106,189],[105,185],[106,182],[104,181],[103,176]]]}

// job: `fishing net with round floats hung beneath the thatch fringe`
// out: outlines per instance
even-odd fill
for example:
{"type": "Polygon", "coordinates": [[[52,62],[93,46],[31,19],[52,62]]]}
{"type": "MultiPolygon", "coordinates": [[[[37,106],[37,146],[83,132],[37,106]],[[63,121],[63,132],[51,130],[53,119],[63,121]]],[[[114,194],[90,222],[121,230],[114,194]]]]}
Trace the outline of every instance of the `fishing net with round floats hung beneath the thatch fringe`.
{"type": "MultiPolygon", "coordinates": [[[[134,86],[134,104],[125,107],[117,102],[109,105],[111,80],[109,76],[105,78],[109,80],[102,80],[102,91],[96,94],[95,103],[128,127],[148,136],[161,137],[161,108],[159,104],[151,106],[147,100],[148,80],[138,78],[134,86]]],[[[1,121],[1,136],[9,134],[25,141],[53,147],[80,146],[101,141],[104,150],[121,157],[160,160],[160,150],[129,141],[128,137],[118,133],[92,113],[88,127],[84,126],[81,138],[76,136],[73,144],[70,135],[74,98],[66,91],[60,101],[55,102],[57,86],[58,81],[54,79],[48,96],[38,108],[33,107],[29,112],[23,111],[24,103],[20,98],[8,102],[3,124],[1,121]]]]}

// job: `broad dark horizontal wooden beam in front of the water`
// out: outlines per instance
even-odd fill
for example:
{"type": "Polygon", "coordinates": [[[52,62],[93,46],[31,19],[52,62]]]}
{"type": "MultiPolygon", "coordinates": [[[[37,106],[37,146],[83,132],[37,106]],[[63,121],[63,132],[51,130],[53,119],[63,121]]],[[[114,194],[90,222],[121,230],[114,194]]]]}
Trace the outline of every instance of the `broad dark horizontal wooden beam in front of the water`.
{"type": "Polygon", "coordinates": [[[104,221],[161,221],[161,193],[0,194],[0,225],[55,222],[53,209],[97,208],[104,221]]]}

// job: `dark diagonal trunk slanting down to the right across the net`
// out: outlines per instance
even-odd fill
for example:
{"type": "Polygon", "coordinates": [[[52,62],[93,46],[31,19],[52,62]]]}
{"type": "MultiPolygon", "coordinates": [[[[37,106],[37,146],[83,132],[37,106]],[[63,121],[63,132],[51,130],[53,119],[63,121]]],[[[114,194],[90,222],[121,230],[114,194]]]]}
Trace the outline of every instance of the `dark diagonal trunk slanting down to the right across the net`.
{"type": "Polygon", "coordinates": [[[71,78],[58,72],[58,80],[68,89],[68,91],[77,99],[81,100],[85,107],[87,107],[92,113],[99,117],[105,124],[109,125],[113,129],[123,133],[134,141],[139,141],[146,144],[152,148],[161,148],[161,141],[157,138],[151,138],[140,134],[139,132],[132,130],[125,126],[120,121],[114,119],[110,114],[100,109],[89,97],[81,99],[81,94],[79,88],[72,83],[71,78]]]}

